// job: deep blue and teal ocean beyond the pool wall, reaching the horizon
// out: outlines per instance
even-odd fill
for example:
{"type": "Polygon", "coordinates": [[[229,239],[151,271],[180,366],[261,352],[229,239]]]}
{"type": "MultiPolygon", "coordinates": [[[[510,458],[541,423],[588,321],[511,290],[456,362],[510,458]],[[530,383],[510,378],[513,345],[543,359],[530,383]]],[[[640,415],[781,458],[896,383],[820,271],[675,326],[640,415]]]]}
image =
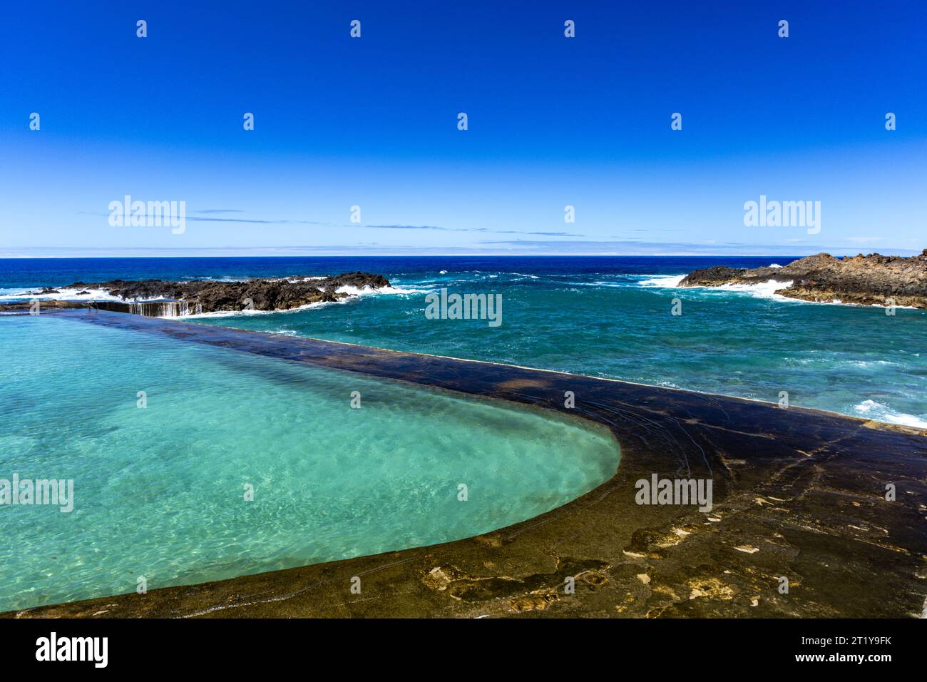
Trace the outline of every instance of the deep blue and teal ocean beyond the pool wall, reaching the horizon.
{"type": "MultiPolygon", "coordinates": [[[[774,287],[679,289],[767,257],[282,257],[0,261],[0,297],[113,278],[385,275],[387,292],[285,313],[188,318],[637,381],[927,428],[927,311],[784,299],[774,287]],[[501,296],[502,324],[425,315],[428,293],[501,296]],[[674,308],[679,315],[673,315],[674,308]]],[[[75,349],[75,352],[81,352],[75,349]]]]}

